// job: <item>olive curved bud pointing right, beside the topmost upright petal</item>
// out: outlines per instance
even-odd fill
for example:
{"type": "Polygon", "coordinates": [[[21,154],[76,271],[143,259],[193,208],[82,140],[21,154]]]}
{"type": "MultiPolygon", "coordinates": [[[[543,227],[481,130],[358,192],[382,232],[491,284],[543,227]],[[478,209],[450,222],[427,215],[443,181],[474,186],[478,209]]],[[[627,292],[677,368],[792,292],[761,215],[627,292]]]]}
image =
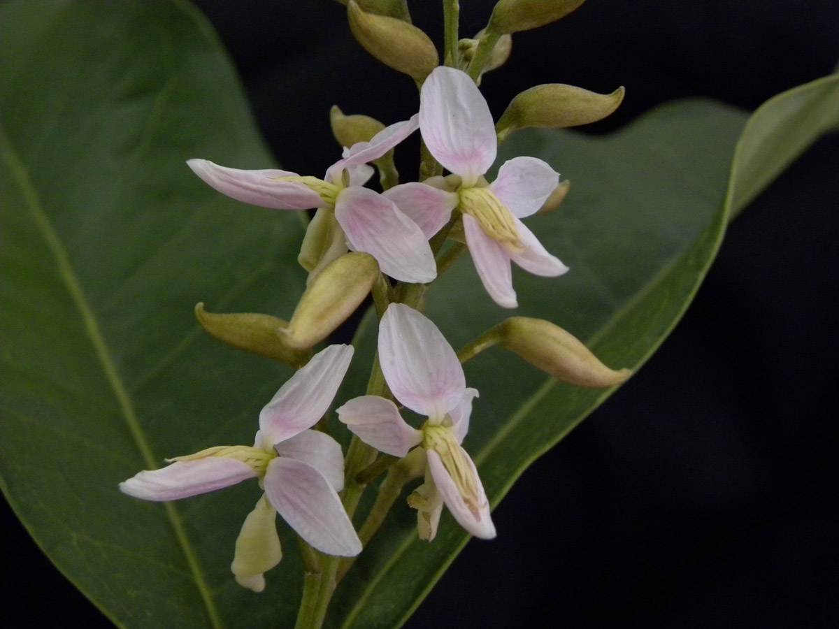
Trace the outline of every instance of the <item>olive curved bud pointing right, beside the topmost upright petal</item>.
{"type": "Polygon", "coordinates": [[[611,94],[597,94],[561,83],[531,87],[513,98],[498,120],[498,141],[524,127],[576,127],[597,122],[618,109],[624,92],[618,87],[611,94]]]}

